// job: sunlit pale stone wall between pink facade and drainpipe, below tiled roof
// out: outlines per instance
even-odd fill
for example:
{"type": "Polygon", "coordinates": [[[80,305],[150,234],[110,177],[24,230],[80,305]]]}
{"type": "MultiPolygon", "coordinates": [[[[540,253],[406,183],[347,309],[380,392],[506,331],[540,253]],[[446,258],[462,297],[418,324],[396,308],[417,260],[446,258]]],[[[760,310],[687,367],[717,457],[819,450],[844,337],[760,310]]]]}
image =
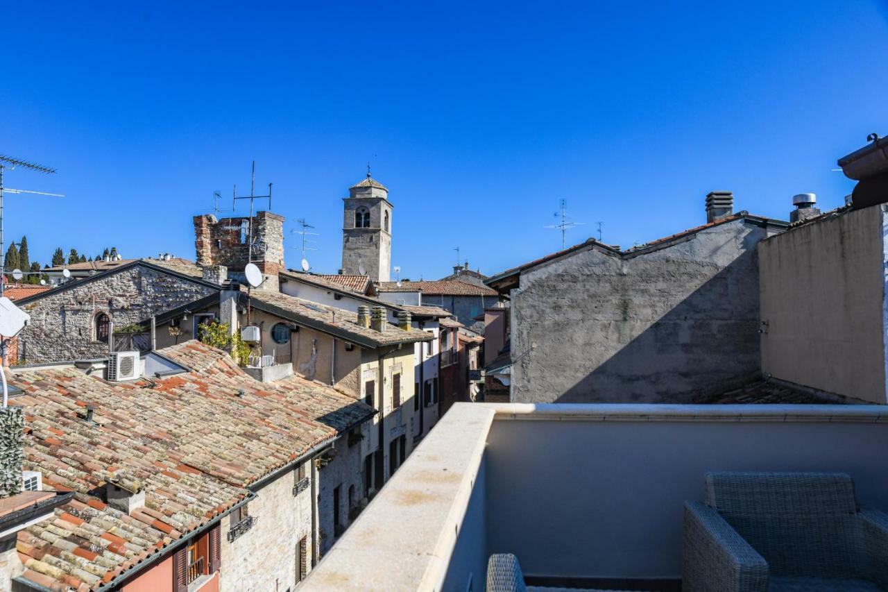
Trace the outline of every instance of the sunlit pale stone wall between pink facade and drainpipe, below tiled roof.
{"type": "MultiPolygon", "coordinates": [[[[311,476],[306,462],[305,474],[311,476]]],[[[287,471],[256,491],[247,511],[252,528],[234,541],[228,540],[232,515],[222,519],[222,561],[219,592],[292,590],[297,584],[298,544],[308,541],[308,569],[312,556],[312,488],[297,496],[297,471],[287,471]]]]}

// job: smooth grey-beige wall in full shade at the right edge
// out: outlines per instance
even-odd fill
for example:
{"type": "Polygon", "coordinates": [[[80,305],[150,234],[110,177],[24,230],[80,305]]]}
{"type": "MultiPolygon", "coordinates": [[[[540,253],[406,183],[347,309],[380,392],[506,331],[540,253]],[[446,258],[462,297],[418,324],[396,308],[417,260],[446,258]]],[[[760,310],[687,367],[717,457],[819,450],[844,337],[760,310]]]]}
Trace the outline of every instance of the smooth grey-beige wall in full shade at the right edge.
{"type": "Polygon", "coordinates": [[[886,402],[885,215],[874,205],[759,244],[763,372],[886,402]]]}

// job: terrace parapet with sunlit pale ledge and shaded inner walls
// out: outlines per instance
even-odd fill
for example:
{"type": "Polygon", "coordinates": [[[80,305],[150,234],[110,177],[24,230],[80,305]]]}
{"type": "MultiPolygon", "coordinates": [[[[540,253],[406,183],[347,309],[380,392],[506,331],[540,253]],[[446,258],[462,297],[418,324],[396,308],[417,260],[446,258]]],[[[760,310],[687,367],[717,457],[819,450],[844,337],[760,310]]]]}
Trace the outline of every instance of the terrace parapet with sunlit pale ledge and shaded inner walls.
{"type": "Polygon", "coordinates": [[[499,552],[528,584],[679,589],[705,472],[841,470],[888,510],[886,449],[880,405],[455,404],[304,589],[478,592],[499,552]]]}

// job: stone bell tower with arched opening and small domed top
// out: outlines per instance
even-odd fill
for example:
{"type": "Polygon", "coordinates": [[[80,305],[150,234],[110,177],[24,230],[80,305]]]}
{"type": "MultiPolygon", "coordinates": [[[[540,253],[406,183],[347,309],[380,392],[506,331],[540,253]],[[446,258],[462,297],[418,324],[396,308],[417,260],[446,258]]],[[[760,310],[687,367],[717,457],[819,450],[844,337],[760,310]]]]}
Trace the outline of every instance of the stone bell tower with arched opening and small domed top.
{"type": "Polygon", "coordinates": [[[342,268],[388,282],[392,269],[392,204],[388,189],[370,177],[348,190],[342,226],[342,268]]]}

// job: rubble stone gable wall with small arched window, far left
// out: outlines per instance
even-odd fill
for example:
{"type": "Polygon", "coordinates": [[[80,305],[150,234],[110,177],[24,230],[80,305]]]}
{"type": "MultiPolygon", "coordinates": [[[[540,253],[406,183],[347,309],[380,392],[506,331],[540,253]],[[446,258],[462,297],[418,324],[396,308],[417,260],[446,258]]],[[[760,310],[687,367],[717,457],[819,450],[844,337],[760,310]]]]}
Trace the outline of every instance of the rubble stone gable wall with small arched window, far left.
{"type": "Polygon", "coordinates": [[[24,305],[31,324],[20,333],[20,352],[26,362],[107,356],[107,343],[93,335],[99,312],[122,327],[210,292],[213,289],[154,269],[125,269],[24,305]]]}

